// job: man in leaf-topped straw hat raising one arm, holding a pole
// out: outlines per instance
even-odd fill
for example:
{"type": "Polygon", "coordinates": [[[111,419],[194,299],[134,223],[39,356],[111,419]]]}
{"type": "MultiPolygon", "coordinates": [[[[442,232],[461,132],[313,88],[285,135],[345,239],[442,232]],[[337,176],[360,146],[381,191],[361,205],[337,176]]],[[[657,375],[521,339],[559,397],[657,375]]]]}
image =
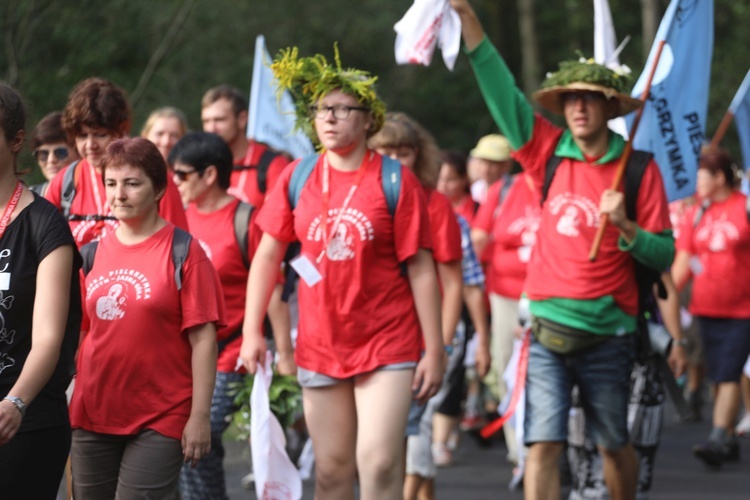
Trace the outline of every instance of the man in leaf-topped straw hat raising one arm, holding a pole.
{"type": "Polygon", "coordinates": [[[567,438],[570,390],[577,384],[610,496],[633,499],[638,463],[628,442],[627,403],[638,312],[634,265],[660,271],[674,256],[666,195],[653,160],[642,160],[635,220],[628,218],[623,193],[609,189],[626,149],[607,120],[640,101],[624,92],[624,75],[593,61],[563,63],[534,95],[565,118],[566,130],[554,126],[534,114],[468,0],[450,3],[461,17],[466,52],[490,112],[544,200],[524,285],[534,316],[524,424],[530,447],[526,498],[560,498],[557,463],[567,438]],[[555,174],[545,187],[548,170],[555,174]],[[589,261],[605,214],[611,224],[598,258],[589,261]]]}

